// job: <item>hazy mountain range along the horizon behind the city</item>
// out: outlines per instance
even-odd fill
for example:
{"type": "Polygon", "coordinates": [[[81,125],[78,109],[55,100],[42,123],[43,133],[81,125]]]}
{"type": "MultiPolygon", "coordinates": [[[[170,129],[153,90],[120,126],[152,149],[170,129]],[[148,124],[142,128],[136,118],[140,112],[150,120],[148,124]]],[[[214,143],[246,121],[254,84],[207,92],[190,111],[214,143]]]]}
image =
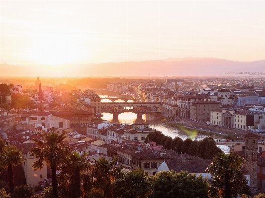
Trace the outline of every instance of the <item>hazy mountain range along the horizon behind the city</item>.
{"type": "Polygon", "coordinates": [[[225,76],[227,72],[265,72],[265,60],[237,62],[216,58],[169,58],[157,61],[53,66],[0,65],[0,76],[225,76]]]}

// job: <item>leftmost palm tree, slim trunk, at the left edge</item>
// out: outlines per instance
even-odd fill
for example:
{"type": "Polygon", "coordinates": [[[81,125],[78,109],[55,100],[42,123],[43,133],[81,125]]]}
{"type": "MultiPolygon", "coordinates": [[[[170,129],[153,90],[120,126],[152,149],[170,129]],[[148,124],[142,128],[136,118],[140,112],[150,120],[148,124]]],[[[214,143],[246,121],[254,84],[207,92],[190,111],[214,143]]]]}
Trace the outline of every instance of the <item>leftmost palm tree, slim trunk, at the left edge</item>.
{"type": "Polygon", "coordinates": [[[22,158],[22,149],[18,150],[14,145],[5,146],[2,148],[2,152],[0,153],[0,167],[7,168],[11,198],[13,198],[13,191],[15,188],[13,166],[17,166],[23,161],[24,159],[22,158]]]}

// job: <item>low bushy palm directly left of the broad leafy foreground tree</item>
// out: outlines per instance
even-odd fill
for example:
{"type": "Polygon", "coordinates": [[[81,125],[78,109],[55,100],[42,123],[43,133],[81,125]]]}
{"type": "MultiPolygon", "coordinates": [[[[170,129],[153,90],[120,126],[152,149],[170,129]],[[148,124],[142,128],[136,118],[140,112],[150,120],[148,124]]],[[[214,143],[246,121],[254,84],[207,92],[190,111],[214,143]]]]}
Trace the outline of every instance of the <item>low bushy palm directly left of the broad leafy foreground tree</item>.
{"type": "Polygon", "coordinates": [[[144,169],[136,169],[124,173],[121,179],[113,183],[113,188],[121,198],[147,198],[153,193],[151,183],[147,181],[148,172],[144,169]]]}

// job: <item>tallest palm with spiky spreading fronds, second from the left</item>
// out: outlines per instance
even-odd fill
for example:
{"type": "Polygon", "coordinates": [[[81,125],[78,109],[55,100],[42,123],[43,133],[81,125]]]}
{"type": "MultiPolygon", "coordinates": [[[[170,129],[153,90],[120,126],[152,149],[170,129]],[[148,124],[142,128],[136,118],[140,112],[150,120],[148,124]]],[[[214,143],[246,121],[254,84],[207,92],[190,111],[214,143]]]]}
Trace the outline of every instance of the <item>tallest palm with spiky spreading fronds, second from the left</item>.
{"type": "Polygon", "coordinates": [[[46,162],[52,170],[52,188],[54,198],[58,198],[58,183],[56,168],[62,160],[69,154],[70,148],[63,141],[67,137],[66,132],[61,135],[58,133],[38,133],[43,140],[34,139],[37,147],[32,147],[30,153],[33,157],[38,158],[33,163],[33,170],[41,170],[44,168],[43,162],[46,162]]]}

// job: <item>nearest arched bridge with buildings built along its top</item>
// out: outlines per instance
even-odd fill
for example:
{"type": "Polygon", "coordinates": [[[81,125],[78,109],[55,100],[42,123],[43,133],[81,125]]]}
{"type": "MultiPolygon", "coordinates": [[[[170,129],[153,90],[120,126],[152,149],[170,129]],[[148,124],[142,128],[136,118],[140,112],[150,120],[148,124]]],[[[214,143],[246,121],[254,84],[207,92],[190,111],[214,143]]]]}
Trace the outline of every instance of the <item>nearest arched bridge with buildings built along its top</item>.
{"type": "Polygon", "coordinates": [[[101,103],[102,113],[111,113],[113,122],[118,122],[118,115],[125,112],[132,112],[137,115],[137,120],[142,120],[145,113],[161,113],[163,108],[162,103],[137,103],[137,102],[104,102],[101,103]]]}

